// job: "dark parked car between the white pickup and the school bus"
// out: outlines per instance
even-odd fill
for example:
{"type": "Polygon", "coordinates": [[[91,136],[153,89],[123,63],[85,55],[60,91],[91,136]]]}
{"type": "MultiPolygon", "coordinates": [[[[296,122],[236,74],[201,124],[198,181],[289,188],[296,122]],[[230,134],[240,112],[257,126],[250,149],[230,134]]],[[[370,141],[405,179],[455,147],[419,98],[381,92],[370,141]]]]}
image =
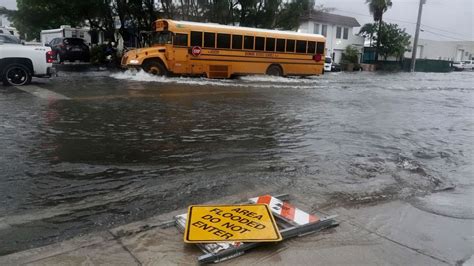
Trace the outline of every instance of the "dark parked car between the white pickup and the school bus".
{"type": "Polygon", "coordinates": [[[89,46],[81,38],[55,38],[48,44],[56,54],[59,63],[64,61],[89,62],[89,46]]]}

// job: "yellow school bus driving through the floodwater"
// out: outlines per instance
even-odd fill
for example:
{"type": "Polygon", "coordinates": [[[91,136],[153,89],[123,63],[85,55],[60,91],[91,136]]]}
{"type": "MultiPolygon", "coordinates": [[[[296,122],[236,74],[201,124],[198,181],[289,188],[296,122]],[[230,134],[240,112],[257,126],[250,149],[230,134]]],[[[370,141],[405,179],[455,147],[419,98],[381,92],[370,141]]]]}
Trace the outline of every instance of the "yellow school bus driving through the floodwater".
{"type": "Polygon", "coordinates": [[[319,75],[322,35],[159,19],[151,46],[127,52],[124,68],[156,75],[229,78],[237,75],[319,75]]]}

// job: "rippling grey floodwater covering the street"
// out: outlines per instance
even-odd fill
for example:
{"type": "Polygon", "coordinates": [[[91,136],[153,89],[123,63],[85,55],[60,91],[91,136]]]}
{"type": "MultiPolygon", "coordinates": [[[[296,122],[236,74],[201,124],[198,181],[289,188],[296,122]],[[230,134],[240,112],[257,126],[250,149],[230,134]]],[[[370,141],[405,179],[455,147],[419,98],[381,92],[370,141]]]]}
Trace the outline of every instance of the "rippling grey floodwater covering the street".
{"type": "Polygon", "coordinates": [[[473,84],[103,71],[34,84],[69,100],[1,88],[0,255],[240,193],[312,210],[407,199],[473,219],[473,84]]]}

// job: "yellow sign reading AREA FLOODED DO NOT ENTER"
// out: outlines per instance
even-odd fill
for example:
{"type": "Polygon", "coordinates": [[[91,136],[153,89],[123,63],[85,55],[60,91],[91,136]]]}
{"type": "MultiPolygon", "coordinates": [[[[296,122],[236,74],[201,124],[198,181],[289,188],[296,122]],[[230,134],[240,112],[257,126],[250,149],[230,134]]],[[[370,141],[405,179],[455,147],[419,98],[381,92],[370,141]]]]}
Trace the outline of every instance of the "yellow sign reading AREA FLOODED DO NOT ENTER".
{"type": "Polygon", "coordinates": [[[184,242],[274,242],[280,231],[268,205],[195,205],[188,209],[184,242]]]}

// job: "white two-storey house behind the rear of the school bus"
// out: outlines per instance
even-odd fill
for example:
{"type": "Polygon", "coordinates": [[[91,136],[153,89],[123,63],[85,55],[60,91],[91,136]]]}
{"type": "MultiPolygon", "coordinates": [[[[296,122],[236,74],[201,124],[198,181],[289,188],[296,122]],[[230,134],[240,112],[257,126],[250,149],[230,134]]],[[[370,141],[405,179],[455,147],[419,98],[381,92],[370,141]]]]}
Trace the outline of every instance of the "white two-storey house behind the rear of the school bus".
{"type": "Polygon", "coordinates": [[[303,18],[298,32],[322,34],[326,37],[326,55],[340,63],[342,52],[353,45],[362,54],[363,37],[354,35],[354,27],[360,27],[353,17],[335,15],[325,12],[313,12],[303,18]]]}

